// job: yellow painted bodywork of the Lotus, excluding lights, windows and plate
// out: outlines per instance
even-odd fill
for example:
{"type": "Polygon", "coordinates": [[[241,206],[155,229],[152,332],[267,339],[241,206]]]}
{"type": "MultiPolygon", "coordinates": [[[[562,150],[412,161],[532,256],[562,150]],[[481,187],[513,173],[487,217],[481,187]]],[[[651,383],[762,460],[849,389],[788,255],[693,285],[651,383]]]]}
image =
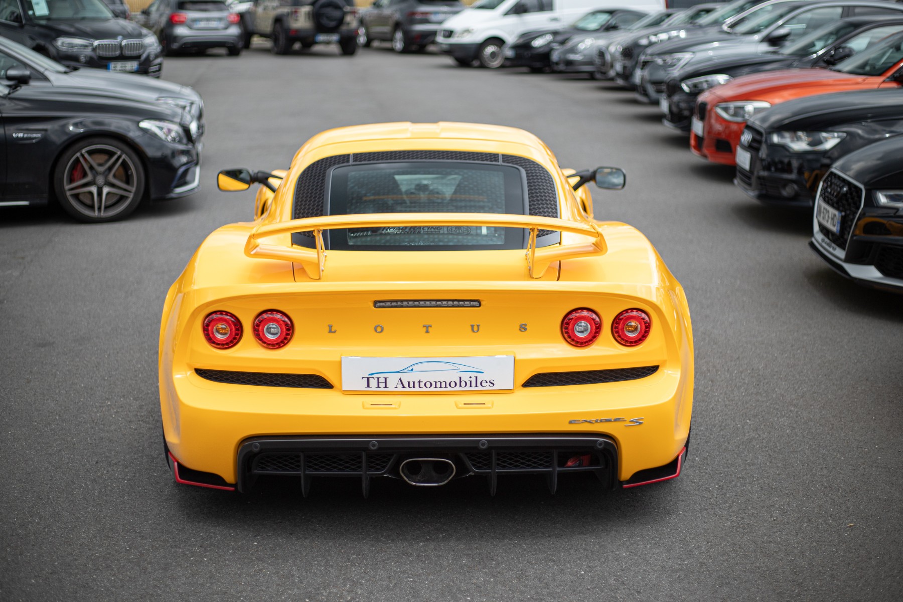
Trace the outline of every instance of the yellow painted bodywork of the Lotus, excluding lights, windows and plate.
{"type": "MultiPolygon", "coordinates": [[[[600,433],[616,441],[618,477],[627,480],[638,470],[666,465],[683,448],[694,382],[684,291],[635,228],[591,219],[589,192],[581,190],[579,198],[573,193],[554,155],[535,136],[471,124],[341,128],[314,136],[289,169],[278,173],[283,174],[275,193],[258,192],[256,221],[221,227],[208,236],[165,301],[159,357],[163,430],[172,454],[186,467],[235,483],[239,445],[263,435],[600,433]],[[310,277],[309,264],[246,254],[252,233],[278,230],[278,224],[293,218],[294,183],[307,165],[337,154],[390,150],[530,158],[553,175],[560,217],[582,225],[563,232],[556,246],[591,242],[592,236],[579,233],[585,230],[599,233],[604,252],[563,258],[531,278],[523,249],[328,251],[319,280],[310,277]],[[430,298],[479,299],[482,306],[373,307],[377,299],[430,298]],[[591,308],[602,319],[600,338],[590,347],[572,347],[562,337],[561,320],[577,308],[591,308]],[[651,334],[638,347],[622,347],[610,324],[619,311],[631,308],[647,311],[651,334]],[[292,342],[281,349],[260,346],[250,332],[256,315],[271,309],[284,311],[294,322],[292,342]],[[241,320],[245,334],[236,347],[219,350],[203,338],[201,323],[213,310],[230,311],[241,320]],[[424,324],[432,325],[428,334],[424,324]],[[472,325],[479,325],[479,332],[472,325]],[[340,358],[351,355],[510,355],[515,357],[515,388],[344,393],[340,358]],[[656,365],[656,374],[634,381],[521,386],[542,372],[656,365]],[[220,384],[201,378],[196,368],[321,375],[334,388],[220,384]],[[481,404],[464,404],[474,400],[481,404]],[[642,418],[643,424],[571,422],[606,418],[642,418]]],[[[292,248],[290,235],[274,237],[277,245],[292,248]]]]}

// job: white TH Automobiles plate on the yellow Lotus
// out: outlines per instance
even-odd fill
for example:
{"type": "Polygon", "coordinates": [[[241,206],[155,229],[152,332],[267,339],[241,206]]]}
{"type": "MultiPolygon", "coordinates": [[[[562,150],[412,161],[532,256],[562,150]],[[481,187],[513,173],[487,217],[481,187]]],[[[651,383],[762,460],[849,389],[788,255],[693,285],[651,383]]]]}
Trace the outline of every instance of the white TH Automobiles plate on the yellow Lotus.
{"type": "Polygon", "coordinates": [[[342,391],[398,394],[514,389],[514,356],[342,357],[342,391]]]}

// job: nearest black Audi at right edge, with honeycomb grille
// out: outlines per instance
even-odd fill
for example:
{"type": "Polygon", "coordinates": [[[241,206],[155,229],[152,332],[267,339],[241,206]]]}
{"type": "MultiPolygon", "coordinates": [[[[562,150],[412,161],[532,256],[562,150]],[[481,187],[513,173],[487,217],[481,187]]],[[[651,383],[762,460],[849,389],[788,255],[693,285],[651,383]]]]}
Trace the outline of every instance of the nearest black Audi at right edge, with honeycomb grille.
{"type": "Polygon", "coordinates": [[[903,136],[842,157],[815,199],[809,246],[834,271],[903,293],[903,136]]]}

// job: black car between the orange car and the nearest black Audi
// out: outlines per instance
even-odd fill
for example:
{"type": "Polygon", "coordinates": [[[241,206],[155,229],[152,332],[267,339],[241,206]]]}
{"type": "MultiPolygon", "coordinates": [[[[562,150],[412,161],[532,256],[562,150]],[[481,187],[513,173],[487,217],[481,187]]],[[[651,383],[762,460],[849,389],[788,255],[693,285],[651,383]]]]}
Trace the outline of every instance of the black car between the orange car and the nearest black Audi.
{"type": "MultiPolygon", "coordinates": [[[[740,136],[749,152],[734,183],[750,197],[811,207],[815,190],[845,154],[903,134],[903,90],[858,90],[788,100],[754,116],[740,136]]],[[[898,159],[903,162],[903,159],[898,159]]]]}

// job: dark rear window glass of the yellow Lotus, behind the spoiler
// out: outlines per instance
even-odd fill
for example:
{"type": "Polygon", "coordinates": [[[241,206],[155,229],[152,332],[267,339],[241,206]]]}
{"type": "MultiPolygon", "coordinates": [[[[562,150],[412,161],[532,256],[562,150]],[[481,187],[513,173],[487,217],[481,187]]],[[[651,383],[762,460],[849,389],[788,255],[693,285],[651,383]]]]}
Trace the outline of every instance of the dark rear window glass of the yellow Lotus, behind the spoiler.
{"type": "MultiPolygon", "coordinates": [[[[525,215],[522,172],[503,164],[386,162],[335,168],[329,214],[507,213],[525,215]]],[[[526,230],[508,227],[373,227],[330,230],[331,249],[382,251],[524,248],[526,230]]]]}

